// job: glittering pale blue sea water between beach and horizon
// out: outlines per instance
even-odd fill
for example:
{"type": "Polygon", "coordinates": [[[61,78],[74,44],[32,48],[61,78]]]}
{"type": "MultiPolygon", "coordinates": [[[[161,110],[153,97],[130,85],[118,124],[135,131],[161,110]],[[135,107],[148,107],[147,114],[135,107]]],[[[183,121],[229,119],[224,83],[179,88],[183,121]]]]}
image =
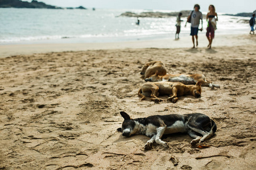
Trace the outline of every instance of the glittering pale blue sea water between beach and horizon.
{"type": "MultiPolygon", "coordinates": [[[[150,39],[174,39],[176,17],[137,18],[118,17],[126,11],[147,10],[52,10],[0,8],[0,44],[119,42],[150,39]]],[[[164,11],[171,12],[171,11],[164,11]]],[[[206,12],[203,12],[206,14],[206,12]]],[[[182,18],[186,20],[186,18],[182,18]]],[[[216,34],[239,34],[250,31],[249,19],[218,14],[216,34]]],[[[189,36],[190,25],[181,24],[182,36],[189,36]]],[[[207,22],[203,20],[205,34],[207,22]]]]}

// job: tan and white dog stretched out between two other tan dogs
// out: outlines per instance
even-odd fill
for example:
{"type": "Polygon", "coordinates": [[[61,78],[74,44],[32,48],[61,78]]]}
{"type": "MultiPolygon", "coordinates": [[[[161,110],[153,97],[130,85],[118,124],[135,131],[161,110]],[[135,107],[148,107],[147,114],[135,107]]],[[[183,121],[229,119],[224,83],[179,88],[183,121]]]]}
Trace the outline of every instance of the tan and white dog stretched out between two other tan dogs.
{"type": "Polygon", "coordinates": [[[210,88],[220,88],[219,85],[213,84],[209,80],[205,79],[203,74],[166,74],[159,75],[158,71],[154,75],[151,75],[150,78],[145,79],[146,82],[180,82],[183,84],[196,84],[199,81],[202,81],[202,86],[207,86],[210,88]]]}

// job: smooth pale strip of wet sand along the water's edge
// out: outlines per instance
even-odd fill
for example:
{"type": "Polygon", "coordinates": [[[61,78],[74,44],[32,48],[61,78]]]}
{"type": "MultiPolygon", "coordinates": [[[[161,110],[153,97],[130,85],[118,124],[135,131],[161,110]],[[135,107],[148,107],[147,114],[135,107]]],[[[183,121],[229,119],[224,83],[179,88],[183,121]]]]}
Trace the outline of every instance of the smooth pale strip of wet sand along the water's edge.
{"type": "MultiPolygon", "coordinates": [[[[216,35],[212,48],[219,46],[240,46],[255,44],[254,35],[216,35]]],[[[203,34],[199,35],[198,48],[207,49],[208,40],[203,34]]],[[[174,38],[156,39],[156,40],[137,40],[125,42],[93,42],[77,43],[69,41],[68,43],[44,43],[44,44],[8,44],[0,45],[0,58],[15,55],[30,55],[34,53],[65,52],[65,51],[84,51],[84,50],[106,50],[106,49],[126,49],[126,48],[191,48],[191,36],[174,38]]]]}

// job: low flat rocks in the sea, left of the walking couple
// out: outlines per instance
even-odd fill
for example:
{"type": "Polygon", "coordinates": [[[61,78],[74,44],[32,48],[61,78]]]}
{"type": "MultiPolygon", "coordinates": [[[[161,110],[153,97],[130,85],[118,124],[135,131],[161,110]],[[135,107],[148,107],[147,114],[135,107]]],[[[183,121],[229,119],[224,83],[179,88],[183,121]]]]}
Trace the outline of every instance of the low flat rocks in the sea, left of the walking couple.
{"type": "MultiPolygon", "coordinates": [[[[187,17],[191,10],[180,11],[182,17],[187,17]]],[[[128,17],[149,17],[149,18],[168,18],[171,16],[177,16],[180,12],[141,12],[141,14],[135,14],[134,12],[125,12],[119,16],[128,16],[128,17]]]]}

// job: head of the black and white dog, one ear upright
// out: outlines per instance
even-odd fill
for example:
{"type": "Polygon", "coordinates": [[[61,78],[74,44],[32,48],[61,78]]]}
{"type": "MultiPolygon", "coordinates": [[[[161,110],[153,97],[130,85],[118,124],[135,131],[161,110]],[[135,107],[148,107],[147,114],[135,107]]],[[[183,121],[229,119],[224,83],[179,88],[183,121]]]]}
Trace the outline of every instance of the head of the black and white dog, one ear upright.
{"type": "Polygon", "coordinates": [[[121,116],[125,119],[123,120],[122,128],[118,128],[119,132],[122,132],[122,135],[125,137],[130,137],[136,133],[135,131],[135,122],[130,118],[130,116],[125,112],[120,112],[121,116]]]}

